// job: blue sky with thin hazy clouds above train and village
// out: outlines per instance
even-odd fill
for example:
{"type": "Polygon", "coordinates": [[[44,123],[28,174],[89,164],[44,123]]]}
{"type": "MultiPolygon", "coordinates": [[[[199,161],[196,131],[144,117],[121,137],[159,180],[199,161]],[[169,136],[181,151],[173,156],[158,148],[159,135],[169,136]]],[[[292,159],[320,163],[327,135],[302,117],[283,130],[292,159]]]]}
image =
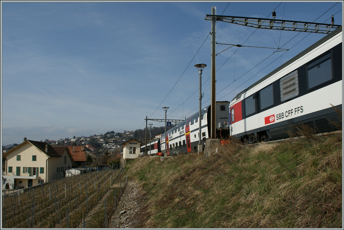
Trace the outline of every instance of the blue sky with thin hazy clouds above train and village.
{"type": "MultiPolygon", "coordinates": [[[[342,25],[336,3],[1,2],[2,145],[143,129],[146,116],[164,119],[164,106],[168,119],[183,119],[198,111],[197,63],[207,64],[202,103],[210,104],[211,21],[204,18],[212,6],[218,15],[272,18],[275,9],[276,19],[329,24],[334,15],[342,25]]],[[[226,22],[216,32],[217,43],[290,49],[218,54],[216,100],[227,101],[325,36],[226,22]]]]}

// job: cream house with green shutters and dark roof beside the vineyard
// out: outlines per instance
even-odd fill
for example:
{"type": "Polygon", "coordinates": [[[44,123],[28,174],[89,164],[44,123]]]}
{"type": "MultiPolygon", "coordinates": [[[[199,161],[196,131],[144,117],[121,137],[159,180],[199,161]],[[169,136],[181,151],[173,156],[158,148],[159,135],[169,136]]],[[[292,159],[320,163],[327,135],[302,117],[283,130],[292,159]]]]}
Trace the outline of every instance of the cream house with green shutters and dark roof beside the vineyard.
{"type": "Polygon", "coordinates": [[[74,162],[66,146],[51,146],[45,142],[24,142],[2,155],[5,171],[2,175],[3,188],[31,187],[57,178],[65,177],[74,162]]]}

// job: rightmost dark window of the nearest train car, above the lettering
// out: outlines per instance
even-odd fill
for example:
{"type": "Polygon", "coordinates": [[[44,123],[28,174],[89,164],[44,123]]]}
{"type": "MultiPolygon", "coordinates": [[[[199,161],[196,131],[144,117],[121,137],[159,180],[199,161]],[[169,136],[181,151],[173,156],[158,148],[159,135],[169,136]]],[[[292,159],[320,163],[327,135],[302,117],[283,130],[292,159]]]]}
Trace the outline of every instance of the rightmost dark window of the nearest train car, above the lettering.
{"type": "Polygon", "coordinates": [[[332,80],[331,53],[307,65],[308,89],[332,80]]]}

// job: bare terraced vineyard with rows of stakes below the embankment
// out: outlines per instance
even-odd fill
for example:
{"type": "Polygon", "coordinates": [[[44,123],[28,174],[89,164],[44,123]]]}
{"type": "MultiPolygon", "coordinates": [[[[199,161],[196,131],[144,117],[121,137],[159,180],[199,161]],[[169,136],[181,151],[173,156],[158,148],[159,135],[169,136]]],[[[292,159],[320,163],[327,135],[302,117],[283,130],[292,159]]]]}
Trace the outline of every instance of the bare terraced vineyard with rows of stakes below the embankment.
{"type": "Polygon", "coordinates": [[[123,168],[3,194],[2,228],[106,228],[126,185],[123,168]]]}

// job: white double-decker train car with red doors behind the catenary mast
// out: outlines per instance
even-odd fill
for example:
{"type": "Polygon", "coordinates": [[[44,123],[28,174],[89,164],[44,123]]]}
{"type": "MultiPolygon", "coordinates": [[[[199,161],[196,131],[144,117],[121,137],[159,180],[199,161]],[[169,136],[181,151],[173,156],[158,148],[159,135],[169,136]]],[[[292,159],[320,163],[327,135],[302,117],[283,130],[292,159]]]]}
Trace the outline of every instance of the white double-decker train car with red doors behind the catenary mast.
{"type": "MultiPolygon", "coordinates": [[[[229,135],[229,101],[216,101],[216,137],[227,138],[229,135]]],[[[175,125],[165,134],[161,135],[161,153],[165,154],[165,142],[167,155],[190,153],[197,150],[199,142],[199,124],[201,122],[202,145],[211,133],[211,106],[193,114],[183,122],[175,125]]]]}

